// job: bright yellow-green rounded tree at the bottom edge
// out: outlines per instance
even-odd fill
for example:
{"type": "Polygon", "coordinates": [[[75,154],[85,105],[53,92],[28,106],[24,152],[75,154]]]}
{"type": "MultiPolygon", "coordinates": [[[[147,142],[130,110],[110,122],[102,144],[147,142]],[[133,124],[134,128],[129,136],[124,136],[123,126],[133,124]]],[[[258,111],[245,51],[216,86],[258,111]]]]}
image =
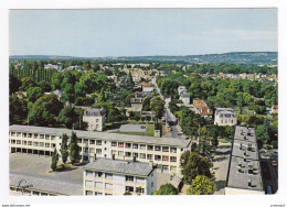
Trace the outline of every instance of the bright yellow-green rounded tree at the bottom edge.
{"type": "Polygon", "coordinates": [[[192,179],[188,195],[212,195],[215,190],[216,185],[211,178],[204,175],[198,175],[192,179]]]}

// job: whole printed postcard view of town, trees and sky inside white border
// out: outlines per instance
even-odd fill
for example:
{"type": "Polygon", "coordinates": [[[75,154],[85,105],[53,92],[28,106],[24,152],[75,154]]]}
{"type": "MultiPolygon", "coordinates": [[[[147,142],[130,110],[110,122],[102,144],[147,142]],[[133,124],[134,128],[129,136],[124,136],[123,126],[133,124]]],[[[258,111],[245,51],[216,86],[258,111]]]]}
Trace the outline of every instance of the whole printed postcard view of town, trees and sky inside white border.
{"type": "Polygon", "coordinates": [[[9,32],[10,196],[277,194],[276,9],[11,10],[9,32]]]}

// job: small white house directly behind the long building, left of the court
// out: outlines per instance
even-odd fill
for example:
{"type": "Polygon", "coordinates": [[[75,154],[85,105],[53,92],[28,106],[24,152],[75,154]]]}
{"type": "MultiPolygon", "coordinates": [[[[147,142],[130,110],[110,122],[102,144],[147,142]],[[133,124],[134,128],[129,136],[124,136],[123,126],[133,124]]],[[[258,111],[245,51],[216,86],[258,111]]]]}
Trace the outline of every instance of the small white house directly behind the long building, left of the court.
{"type": "Polygon", "coordinates": [[[88,123],[88,131],[103,131],[106,115],[104,109],[87,108],[84,110],[83,121],[88,123]]]}

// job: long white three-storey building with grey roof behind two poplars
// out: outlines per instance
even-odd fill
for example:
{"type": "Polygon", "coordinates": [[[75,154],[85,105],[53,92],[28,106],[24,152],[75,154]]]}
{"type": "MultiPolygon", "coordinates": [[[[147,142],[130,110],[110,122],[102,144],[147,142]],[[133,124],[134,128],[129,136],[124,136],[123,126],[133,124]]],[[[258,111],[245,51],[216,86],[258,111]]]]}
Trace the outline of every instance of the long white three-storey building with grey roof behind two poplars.
{"type": "MultiPolygon", "coordinates": [[[[71,137],[73,130],[33,126],[9,127],[9,152],[38,155],[52,155],[54,149],[60,152],[62,135],[71,137]]],[[[74,130],[77,135],[79,155],[83,161],[95,157],[117,160],[136,157],[139,162],[152,161],[163,172],[179,173],[180,156],[191,150],[191,141],[177,138],[152,138],[74,130]]]]}

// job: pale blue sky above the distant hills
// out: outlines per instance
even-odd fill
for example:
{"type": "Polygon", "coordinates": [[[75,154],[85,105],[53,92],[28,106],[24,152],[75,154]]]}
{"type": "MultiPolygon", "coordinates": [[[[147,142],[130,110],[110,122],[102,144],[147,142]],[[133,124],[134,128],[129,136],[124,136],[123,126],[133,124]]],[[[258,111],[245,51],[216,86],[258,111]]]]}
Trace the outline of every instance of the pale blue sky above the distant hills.
{"type": "Polygon", "coordinates": [[[277,52],[277,9],[10,10],[10,55],[277,52]]]}

